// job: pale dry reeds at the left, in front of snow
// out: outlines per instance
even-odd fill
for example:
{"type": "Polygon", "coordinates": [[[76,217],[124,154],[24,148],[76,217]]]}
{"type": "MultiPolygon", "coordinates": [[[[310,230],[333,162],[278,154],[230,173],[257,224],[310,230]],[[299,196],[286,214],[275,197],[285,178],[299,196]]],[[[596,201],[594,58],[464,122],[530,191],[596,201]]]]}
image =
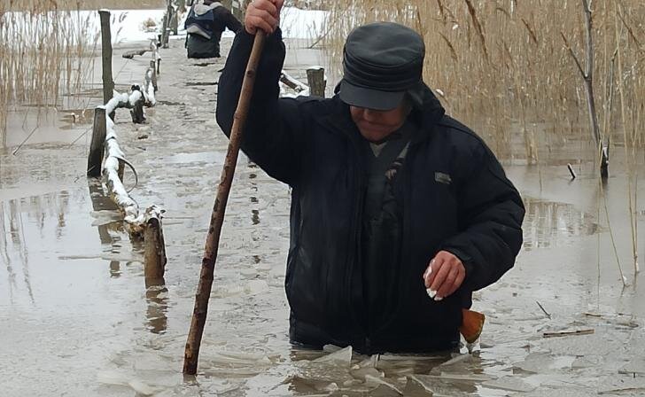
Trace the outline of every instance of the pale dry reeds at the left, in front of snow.
{"type": "Polygon", "coordinates": [[[93,66],[98,34],[71,0],[0,2],[0,135],[12,109],[38,114],[78,93],[93,66]]]}

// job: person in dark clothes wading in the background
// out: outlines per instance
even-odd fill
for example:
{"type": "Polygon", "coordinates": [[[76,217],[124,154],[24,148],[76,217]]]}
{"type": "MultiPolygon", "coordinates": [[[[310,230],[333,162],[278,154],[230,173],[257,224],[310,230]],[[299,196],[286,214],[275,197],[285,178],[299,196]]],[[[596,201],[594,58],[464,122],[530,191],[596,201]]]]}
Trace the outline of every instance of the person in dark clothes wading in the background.
{"type": "Polygon", "coordinates": [[[220,58],[221,33],[227,28],[237,33],[242,24],[221,3],[197,0],[190,6],[185,28],[188,58],[220,58]]]}

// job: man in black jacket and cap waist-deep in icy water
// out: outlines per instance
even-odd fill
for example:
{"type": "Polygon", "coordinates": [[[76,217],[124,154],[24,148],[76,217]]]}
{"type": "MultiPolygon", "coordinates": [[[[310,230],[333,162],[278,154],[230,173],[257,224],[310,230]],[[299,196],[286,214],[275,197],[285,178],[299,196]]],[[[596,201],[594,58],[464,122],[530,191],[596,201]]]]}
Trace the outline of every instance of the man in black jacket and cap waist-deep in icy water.
{"type": "Polygon", "coordinates": [[[292,188],[291,342],[363,354],[455,349],[471,293],[514,264],[522,200],[422,81],[424,42],[408,27],[356,28],[335,97],[279,98],[283,3],[249,5],[217,121],[229,135],[253,35],[267,32],[242,149],[292,188]]]}

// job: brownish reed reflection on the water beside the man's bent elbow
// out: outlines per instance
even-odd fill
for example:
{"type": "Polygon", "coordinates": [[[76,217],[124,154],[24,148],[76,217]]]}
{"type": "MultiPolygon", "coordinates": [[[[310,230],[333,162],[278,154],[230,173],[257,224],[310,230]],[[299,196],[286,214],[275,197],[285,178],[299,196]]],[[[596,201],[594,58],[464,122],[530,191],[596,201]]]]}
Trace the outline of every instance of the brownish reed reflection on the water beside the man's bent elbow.
{"type": "Polygon", "coordinates": [[[593,215],[571,204],[531,198],[525,198],[524,202],[525,250],[569,245],[571,240],[566,237],[591,236],[601,231],[593,215]]]}

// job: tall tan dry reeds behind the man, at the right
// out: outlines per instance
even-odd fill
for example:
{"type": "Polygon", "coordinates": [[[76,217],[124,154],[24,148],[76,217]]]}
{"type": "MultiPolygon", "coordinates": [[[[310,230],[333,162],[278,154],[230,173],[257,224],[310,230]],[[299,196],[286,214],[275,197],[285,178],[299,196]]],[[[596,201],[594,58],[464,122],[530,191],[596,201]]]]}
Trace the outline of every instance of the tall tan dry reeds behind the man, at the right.
{"type": "MultiPolygon", "coordinates": [[[[427,46],[425,82],[502,158],[539,163],[540,155],[548,157],[572,136],[591,143],[583,80],[566,45],[584,66],[582,0],[330,3],[327,23],[333,29],[325,41],[333,65],[340,65],[346,35],[356,26],[389,20],[416,29],[427,46]]],[[[645,3],[595,0],[592,7],[594,97],[602,133],[612,144],[642,147],[645,3]]],[[[594,155],[593,145],[585,149],[594,155]]]]}

